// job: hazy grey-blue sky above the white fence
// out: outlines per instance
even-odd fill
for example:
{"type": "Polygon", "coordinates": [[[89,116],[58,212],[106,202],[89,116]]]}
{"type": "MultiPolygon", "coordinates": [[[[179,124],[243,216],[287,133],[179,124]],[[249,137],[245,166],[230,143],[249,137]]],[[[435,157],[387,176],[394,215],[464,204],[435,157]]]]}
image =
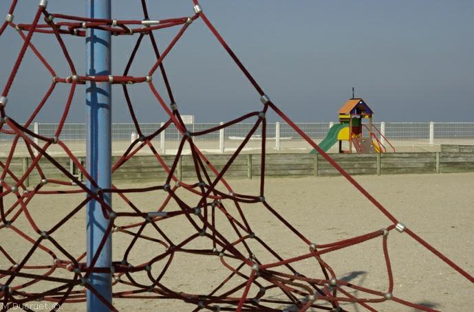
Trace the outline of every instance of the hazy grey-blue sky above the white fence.
{"type": "MultiPolygon", "coordinates": [[[[30,23],[37,2],[19,0],[15,22],[30,23]]],[[[48,10],[83,16],[86,2],[50,0],[48,10]]],[[[112,3],[115,19],[142,19],[139,0],[112,3]]],[[[148,3],[153,19],[193,14],[191,0],[148,3]]],[[[336,121],[339,107],[352,96],[352,86],[356,96],[374,110],[376,121],[474,121],[472,0],[200,3],[263,90],[295,121],[336,121]]],[[[9,5],[10,1],[1,1],[0,16],[6,15],[9,5]]],[[[162,49],[177,30],[155,32],[162,49]]],[[[83,74],[84,38],[65,37],[83,74]]],[[[113,40],[113,72],[119,75],[136,36],[113,40]]],[[[2,89],[21,43],[11,28],[0,37],[2,89]]],[[[35,34],[33,43],[58,76],[70,74],[52,35],[35,34]]],[[[145,41],[131,74],[144,76],[153,57],[145,41]]],[[[196,122],[226,121],[261,109],[257,93],[202,21],[191,25],[164,65],[182,113],[195,115],[196,122]]],[[[50,81],[41,63],[28,52],[9,95],[8,115],[25,120],[50,81]]],[[[153,81],[158,84],[158,76],[153,81]]],[[[68,87],[58,85],[38,122],[58,122],[68,87]]],[[[165,120],[146,85],[129,89],[141,122],[165,120]]],[[[84,93],[83,87],[76,91],[68,122],[84,122],[84,93]]],[[[121,87],[114,87],[113,96],[114,122],[130,122],[121,87]]]]}

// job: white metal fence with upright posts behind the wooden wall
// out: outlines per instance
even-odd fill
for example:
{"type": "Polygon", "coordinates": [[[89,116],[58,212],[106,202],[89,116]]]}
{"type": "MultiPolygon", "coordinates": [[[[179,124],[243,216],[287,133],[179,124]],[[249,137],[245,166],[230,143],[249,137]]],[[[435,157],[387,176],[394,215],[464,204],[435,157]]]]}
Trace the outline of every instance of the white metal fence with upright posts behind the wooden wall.
{"type": "MultiPolygon", "coordinates": [[[[150,135],[157,131],[163,123],[140,124],[140,129],[144,135],[150,135]]],[[[189,124],[188,129],[193,132],[204,131],[218,126],[220,123],[189,124]]],[[[300,122],[297,125],[314,142],[319,143],[324,139],[333,122],[300,122]]],[[[214,131],[206,135],[194,138],[195,144],[202,150],[210,153],[224,153],[225,151],[235,151],[242,143],[246,135],[254,124],[239,123],[229,126],[220,131],[214,131]]],[[[412,146],[416,144],[474,144],[474,122],[375,122],[374,125],[387,137],[387,140],[394,146],[412,146]]],[[[43,135],[53,137],[58,124],[32,124],[29,129],[43,135]]],[[[6,125],[3,129],[8,129],[6,125]]],[[[115,154],[120,154],[129,146],[133,140],[133,133],[136,132],[133,124],[113,124],[112,125],[112,150],[115,154]]],[[[67,144],[73,153],[85,153],[85,124],[65,124],[61,131],[60,139],[67,144]]],[[[166,131],[157,135],[152,143],[160,153],[175,153],[182,135],[171,124],[166,131]]],[[[10,152],[14,135],[0,133],[0,154],[6,155],[10,152]]],[[[38,142],[38,140],[36,140],[38,142]]],[[[40,142],[41,143],[41,142],[40,142]]],[[[246,144],[246,150],[261,148],[261,126],[250,137],[246,144]]],[[[266,148],[271,151],[286,149],[305,149],[310,145],[305,142],[286,123],[268,123],[266,126],[266,148]]],[[[185,148],[188,150],[188,146],[185,148]]],[[[145,150],[148,150],[145,148],[145,150]]],[[[27,153],[25,144],[19,140],[18,153],[27,153]]],[[[59,146],[48,148],[50,153],[63,153],[59,146]]]]}

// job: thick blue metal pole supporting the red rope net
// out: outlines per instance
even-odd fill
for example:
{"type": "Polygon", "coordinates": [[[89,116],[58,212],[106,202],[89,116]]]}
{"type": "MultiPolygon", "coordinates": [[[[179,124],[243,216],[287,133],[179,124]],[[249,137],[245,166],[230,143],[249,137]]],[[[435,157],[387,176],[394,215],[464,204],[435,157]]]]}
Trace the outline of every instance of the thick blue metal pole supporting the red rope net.
{"type": "MultiPolygon", "coordinates": [[[[87,16],[110,19],[111,0],[87,0],[87,16]]],[[[87,76],[109,76],[111,74],[111,34],[103,30],[87,30],[86,34],[87,76]]],[[[111,85],[109,82],[87,82],[86,85],[86,163],[87,171],[100,188],[111,187],[111,85]]],[[[94,191],[91,183],[88,187],[94,191]]],[[[111,194],[104,194],[111,205],[111,194]]],[[[98,201],[87,205],[87,265],[102,241],[109,219],[103,216],[98,201]]],[[[111,266],[111,236],[107,238],[96,267],[111,266]]],[[[96,273],[89,276],[89,285],[94,287],[107,301],[112,302],[111,274],[96,273]]],[[[109,311],[94,293],[87,291],[87,311],[109,311]]]]}

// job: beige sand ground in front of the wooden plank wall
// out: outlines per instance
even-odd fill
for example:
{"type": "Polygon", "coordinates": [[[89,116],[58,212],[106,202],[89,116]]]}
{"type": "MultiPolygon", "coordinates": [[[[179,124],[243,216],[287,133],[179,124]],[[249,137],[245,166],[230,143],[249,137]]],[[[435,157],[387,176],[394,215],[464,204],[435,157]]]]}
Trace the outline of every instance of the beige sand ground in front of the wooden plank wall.
{"type": "MultiPolygon", "coordinates": [[[[474,275],[474,173],[442,175],[385,175],[359,176],[360,182],[371,194],[383,203],[399,221],[419,234],[426,241],[449,256],[469,274],[474,275]]],[[[235,192],[241,194],[258,194],[259,179],[230,180],[235,192]]],[[[138,187],[140,185],[133,185],[138,187]]],[[[48,188],[54,189],[52,186],[48,188]]],[[[196,197],[180,192],[189,203],[196,197]]],[[[143,211],[158,207],[164,199],[164,192],[150,194],[130,194],[129,198],[143,211]]],[[[316,243],[330,243],[350,238],[367,232],[387,227],[391,222],[369,203],[343,177],[305,177],[266,179],[266,201],[272,205],[286,220],[299,229],[306,237],[316,243]]],[[[58,194],[36,196],[29,205],[32,218],[41,230],[47,230],[61,220],[74,205],[84,198],[83,194],[58,194]]],[[[12,203],[11,196],[6,197],[6,207],[12,203]]],[[[230,207],[230,205],[228,205],[230,207]]],[[[244,213],[255,234],[266,241],[283,258],[297,256],[308,252],[308,245],[292,234],[286,226],[278,221],[261,203],[243,205],[244,213]]],[[[130,211],[118,196],[114,196],[114,209],[130,211]]],[[[167,210],[176,210],[173,203],[167,210]]],[[[231,213],[235,210],[230,209],[231,213]]],[[[136,219],[134,219],[136,220],[136,219]]],[[[237,236],[222,216],[218,216],[218,228],[228,239],[237,236]]],[[[116,224],[125,225],[133,221],[118,218],[116,224]]],[[[159,223],[162,230],[173,241],[195,233],[195,230],[184,217],[177,217],[159,223]]],[[[15,223],[32,237],[37,237],[30,230],[24,216],[15,223]]],[[[80,256],[85,250],[85,211],[81,210],[65,223],[61,230],[52,234],[73,256],[80,256]]],[[[136,231],[137,229],[132,229],[136,231]]],[[[144,234],[158,237],[153,228],[146,227],[144,234]]],[[[123,233],[114,234],[114,260],[120,261],[131,236],[123,233]]],[[[28,253],[31,243],[14,234],[12,230],[0,230],[0,246],[6,249],[14,260],[20,261],[28,253]]],[[[65,256],[58,249],[51,247],[58,257],[65,256]]],[[[189,248],[211,248],[207,238],[197,238],[189,248]]],[[[272,257],[257,244],[251,244],[255,255],[262,262],[272,262],[272,257]]],[[[164,247],[157,243],[138,241],[131,250],[129,263],[138,265],[164,252],[164,247]]],[[[406,233],[392,231],[389,234],[389,254],[394,271],[394,296],[424,304],[440,311],[472,311],[474,306],[474,285],[456,271],[439,260],[431,252],[413,241],[406,233]]],[[[375,238],[366,243],[341,249],[323,256],[336,271],[338,278],[356,285],[385,291],[387,273],[383,260],[382,239],[375,238]]],[[[44,252],[36,252],[29,263],[49,265],[51,258],[44,252]]],[[[230,261],[231,264],[234,264],[230,261]]],[[[0,269],[10,263],[0,254],[0,269]]],[[[153,266],[152,274],[158,275],[162,265],[153,266]]],[[[322,277],[314,259],[304,260],[297,265],[301,273],[308,276],[322,277]]],[[[250,274],[250,268],[242,270],[250,274]]],[[[172,265],[162,279],[162,283],[171,289],[186,293],[208,293],[219,285],[229,274],[219,261],[218,256],[193,256],[176,253],[172,265]]],[[[56,276],[65,275],[58,270],[56,276]]],[[[144,281],[144,278],[138,277],[144,281]]],[[[0,279],[3,282],[4,279],[0,279]]],[[[20,282],[18,279],[17,282],[20,282]]],[[[236,280],[237,285],[243,280],[236,280]]],[[[26,291],[38,291],[57,286],[54,283],[33,285],[26,291]]],[[[76,289],[80,289],[77,287],[76,289]]],[[[129,289],[116,287],[119,291],[129,289]]],[[[251,291],[250,293],[256,293],[251,291]]],[[[364,296],[355,291],[354,296],[364,296]]],[[[274,296],[269,292],[268,296],[274,296]]],[[[278,298],[282,298],[281,296],[278,298]]],[[[194,305],[178,300],[130,300],[114,299],[120,311],[192,311],[194,305]]],[[[378,311],[413,311],[413,309],[384,302],[372,304],[378,311]]],[[[280,309],[286,306],[278,306],[280,309]]],[[[344,304],[347,311],[366,311],[356,304],[344,304]]],[[[41,309],[36,309],[41,311],[41,309]]],[[[61,311],[85,311],[85,304],[67,304],[61,311]]],[[[316,310],[314,310],[316,311],[316,310]]],[[[318,310],[319,311],[319,310],[318,310]]]]}

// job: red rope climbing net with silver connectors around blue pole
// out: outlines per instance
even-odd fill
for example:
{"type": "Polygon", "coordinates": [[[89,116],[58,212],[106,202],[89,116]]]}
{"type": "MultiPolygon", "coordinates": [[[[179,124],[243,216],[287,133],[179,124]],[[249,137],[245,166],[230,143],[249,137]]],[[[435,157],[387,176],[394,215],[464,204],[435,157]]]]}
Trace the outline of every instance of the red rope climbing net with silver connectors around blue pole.
{"type": "MultiPolygon", "coordinates": [[[[9,309],[13,304],[26,304],[28,302],[34,302],[35,300],[55,302],[59,306],[67,304],[68,302],[83,302],[86,300],[87,289],[94,293],[111,311],[117,311],[116,307],[110,302],[107,302],[89,283],[89,276],[94,272],[100,272],[109,273],[113,276],[114,289],[118,286],[126,288],[123,291],[114,291],[114,298],[177,299],[191,304],[196,310],[279,311],[277,306],[292,305],[297,307],[300,311],[306,311],[310,308],[323,311],[344,311],[343,307],[341,307],[341,303],[355,302],[369,311],[376,311],[376,304],[378,302],[393,300],[394,302],[404,304],[408,307],[423,311],[433,311],[433,309],[408,302],[394,295],[394,276],[391,270],[387,247],[387,237],[393,230],[411,236],[411,238],[429,249],[435,256],[438,256],[444,263],[459,272],[464,278],[470,282],[474,282],[473,276],[458,267],[449,260],[449,258],[438,252],[438,250],[433,248],[390,214],[383,205],[374,199],[367,190],[360,186],[360,184],[343,170],[329,155],[322,151],[308,135],[305,135],[305,133],[270,100],[255,79],[252,78],[239,58],[237,58],[230,47],[228,47],[224,38],[220,36],[211,21],[208,20],[206,14],[202,12],[202,8],[200,4],[197,3],[197,0],[193,0],[195,12],[193,16],[162,19],[160,21],[150,19],[144,0],[141,0],[141,5],[144,14],[142,21],[109,20],[49,12],[47,10],[47,1],[41,0],[32,23],[28,24],[14,23],[14,10],[17,6],[17,1],[13,0],[10,5],[6,21],[1,25],[0,35],[10,27],[19,34],[23,43],[0,98],[0,130],[2,133],[14,137],[8,157],[0,161],[0,233],[9,231],[17,235],[18,243],[25,241],[28,242],[30,247],[24,258],[16,259],[6,248],[2,247],[3,238],[0,240],[0,253],[2,257],[6,258],[8,263],[11,264],[8,269],[0,269],[0,299],[3,300],[3,310],[9,309]],[[255,90],[259,94],[261,105],[263,106],[260,111],[246,113],[222,125],[206,129],[205,131],[191,132],[186,129],[186,125],[180,117],[180,111],[173,98],[171,85],[166,77],[163,60],[171,53],[173,47],[180,38],[182,38],[186,30],[192,27],[192,24],[197,21],[204,22],[208,29],[211,30],[230,58],[233,59],[251,85],[255,87],[255,90]],[[159,30],[171,27],[177,27],[179,31],[169,45],[160,53],[155,34],[159,30]],[[77,73],[63,38],[65,36],[85,37],[86,29],[103,30],[111,32],[111,34],[116,36],[138,36],[129,60],[127,61],[127,65],[125,66],[125,71],[123,71],[121,76],[80,76],[77,73]],[[43,54],[39,52],[39,49],[36,49],[32,43],[32,37],[35,33],[51,34],[56,38],[63,52],[63,56],[69,65],[70,76],[59,77],[56,75],[53,65],[48,62],[46,56],[43,56],[43,54]],[[136,58],[138,49],[145,38],[148,38],[151,42],[156,58],[155,63],[151,65],[148,74],[144,76],[129,76],[129,70],[133,60],[136,58]],[[28,118],[26,122],[20,123],[8,116],[7,102],[8,94],[17,76],[23,56],[25,56],[25,52],[27,52],[28,49],[34,53],[36,58],[38,58],[47,71],[50,72],[52,82],[45,96],[39,101],[36,109],[34,109],[30,115],[30,118],[28,118]],[[166,88],[169,99],[168,102],[164,100],[155,87],[155,84],[158,84],[158,79],[152,79],[157,71],[159,71],[161,76],[160,83],[166,88]],[[127,161],[132,159],[140,150],[148,148],[153,153],[157,163],[166,170],[167,177],[165,181],[157,181],[154,186],[147,188],[119,188],[118,186],[112,186],[110,189],[98,188],[98,184],[91,177],[90,172],[87,172],[83,164],[78,160],[78,157],[73,155],[73,153],[69,151],[67,144],[61,140],[61,131],[69,114],[69,108],[71,107],[74,93],[76,89],[78,89],[78,86],[85,85],[86,82],[109,82],[112,85],[120,85],[123,89],[129,114],[133,120],[133,124],[135,124],[136,132],[139,135],[138,139],[131,142],[127,150],[115,162],[112,167],[112,172],[116,172],[116,170],[124,166],[127,161]],[[129,96],[129,88],[131,85],[140,83],[149,86],[158,105],[162,108],[164,114],[168,116],[167,122],[150,135],[144,135],[140,129],[140,124],[136,118],[134,106],[129,96]],[[44,137],[30,131],[28,126],[34,122],[39,112],[47,107],[46,103],[58,84],[69,85],[69,96],[54,137],[44,137]],[[361,236],[335,241],[334,243],[318,244],[305,237],[297,228],[293,227],[281,216],[277,210],[272,208],[272,205],[270,205],[271,199],[265,197],[266,192],[264,189],[266,169],[266,114],[270,111],[273,111],[279,118],[287,122],[294,131],[299,133],[303,140],[315,148],[324,159],[354,186],[354,188],[373,203],[376,209],[387,217],[387,227],[382,230],[373,230],[361,236]],[[256,120],[252,129],[250,129],[248,135],[246,135],[235,153],[230,155],[228,161],[226,161],[223,166],[219,165],[221,167],[219,170],[217,170],[217,166],[214,166],[193,142],[196,137],[219,131],[228,126],[250,119],[256,120]],[[154,148],[152,140],[172,125],[180,132],[181,140],[177,154],[171,166],[169,166],[169,164],[166,164],[166,161],[164,161],[162,155],[154,148]],[[246,146],[250,137],[259,131],[261,132],[261,176],[259,195],[239,194],[234,192],[230,186],[231,183],[224,179],[224,175],[226,175],[230,166],[246,146]],[[31,162],[28,164],[28,168],[23,175],[15,175],[10,166],[14,157],[15,148],[20,142],[24,142],[27,147],[31,162]],[[91,187],[87,187],[84,181],[72,175],[63,164],[60,164],[57,159],[48,153],[48,148],[53,144],[60,146],[63,151],[67,153],[84,179],[89,181],[91,187]],[[176,174],[180,155],[186,144],[190,147],[193,166],[195,168],[196,178],[192,183],[180,181],[176,174]],[[40,160],[52,164],[52,166],[60,170],[66,178],[48,178],[41,168],[40,160]],[[38,183],[34,186],[27,188],[25,181],[33,172],[39,175],[41,179],[39,179],[38,183]],[[51,185],[58,187],[46,187],[51,185]],[[71,188],[59,190],[61,186],[69,186],[71,188]],[[96,191],[96,189],[98,189],[98,191],[96,191]],[[132,194],[152,194],[154,192],[164,192],[166,199],[160,203],[158,209],[153,211],[140,208],[134,204],[131,199],[132,194]],[[186,202],[182,192],[197,196],[199,198],[197,204],[186,202]],[[85,194],[85,199],[79,205],[67,208],[67,215],[49,229],[40,228],[30,213],[31,209],[29,203],[38,195],[47,194],[53,197],[57,194],[77,193],[85,194]],[[127,205],[129,211],[114,211],[111,205],[104,200],[104,194],[116,194],[120,197],[122,203],[127,205]],[[14,201],[7,205],[5,199],[8,196],[13,196],[14,201]],[[56,241],[55,239],[55,234],[61,230],[65,230],[67,221],[74,218],[79,212],[83,212],[85,205],[92,200],[100,203],[104,216],[109,219],[109,226],[105,230],[97,255],[100,254],[100,249],[105,244],[109,235],[120,233],[130,237],[130,243],[127,245],[124,254],[122,254],[122,258],[115,259],[111,267],[99,267],[96,265],[97,257],[94,257],[90,265],[87,265],[84,261],[86,257],[85,253],[75,257],[73,256],[75,251],[68,248],[66,242],[56,241]],[[173,203],[178,209],[170,210],[170,203],[173,203]],[[256,234],[257,231],[254,232],[254,229],[250,226],[250,222],[248,221],[248,214],[246,214],[246,210],[242,208],[244,204],[261,205],[268,210],[270,214],[281,222],[283,227],[286,227],[299,238],[299,243],[307,248],[306,252],[291,258],[285,258],[277,253],[270,245],[259,238],[256,234]],[[232,207],[232,209],[230,209],[230,207],[232,207]],[[225,224],[219,224],[220,219],[217,217],[218,215],[224,217],[225,224]],[[22,230],[22,227],[17,224],[18,222],[16,221],[18,221],[20,216],[28,220],[28,226],[30,230],[34,231],[36,236],[27,234],[27,231],[22,230]],[[173,233],[165,232],[161,225],[163,222],[177,218],[178,216],[184,217],[183,222],[193,227],[195,231],[191,236],[180,241],[175,241],[173,233]],[[137,218],[140,219],[140,221],[136,221],[137,218]],[[237,239],[233,240],[224,235],[222,231],[219,230],[222,229],[222,227],[230,228],[237,236],[237,239]],[[145,235],[145,229],[153,230],[153,236],[145,235]],[[206,239],[208,248],[188,248],[188,245],[198,238],[206,239]],[[325,254],[374,239],[381,239],[383,241],[382,252],[385,258],[388,279],[388,287],[385,292],[368,289],[338,278],[336,271],[332,268],[330,263],[326,263],[325,260],[323,260],[325,254]],[[158,252],[153,258],[150,258],[144,263],[131,264],[129,263],[129,254],[133,252],[133,246],[136,245],[138,241],[158,244],[158,246],[162,247],[161,252],[158,252]],[[255,256],[255,253],[252,252],[251,246],[254,244],[268,251],[274,260],[262,262],[255,256]],[[54,250],[59,252],[53,251],[50,246],[54,246],[54,250]],[[169,267],[177,253],[195,254],[202,257],[219,257],[222,266],[228,270],[228,276],[219,282],[213,291],[206,294],[183,293],[180,289],[173,289],[172,287],[166,286],[163,278],[169,274],[169,267]],[[52,264],[38,265],[32,263],[32,259],[36,254],[47,254],[52,257],[52,264]],[[295,269],[298,263],[307,260],[313,260],[314,264],[318,267],[317,270],[314,269],[314,274],[311,276],[301,274],[295,269]],[[159,268],[158,271],[156,269],[157,267],[159,268]],[[41,274],[39,271],[43,271],[43,273],[41,274]],[[61,276],[56,274],[58,271],[61,271],[61,276]],[[146,282],[138,278],[140,276],[144,278],[146,282]],[[235,283],[233,282],[235,279],[244,280],[244,282],[235,283]],[[224,291],[228,285],[233,286],[224,291]],[[36,286],[36,288],[30,290],[33,286],[36,286]],[[354,290],[362,295],[354,296],[352,294],[354,290]],[[279,293],[281,296],[268,296],[270,291],[272,294],[279,293]]],[[[0,237],[3,237],[3,235],[0,237]]],[[[27,308],[24,309],[31,311],[27,308]]]]}

